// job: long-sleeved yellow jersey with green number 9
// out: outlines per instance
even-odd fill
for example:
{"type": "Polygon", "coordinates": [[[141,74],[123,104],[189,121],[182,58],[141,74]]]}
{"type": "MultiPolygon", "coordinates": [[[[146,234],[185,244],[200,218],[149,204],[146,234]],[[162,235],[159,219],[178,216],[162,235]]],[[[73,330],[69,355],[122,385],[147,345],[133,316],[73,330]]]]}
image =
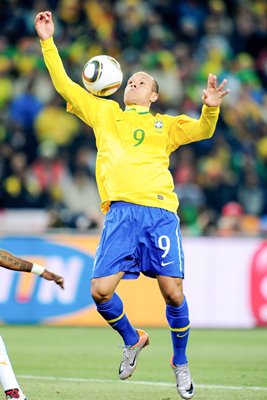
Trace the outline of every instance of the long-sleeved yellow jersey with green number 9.
{"type": "Polygon", "coordinates": [[[169,156],[179,146],[210,138],[219,107],[203,105],[200,119],[186,115],[152,115],[149,108],[127,106],[96,97],[73,82],[64,69],[53,38],[41,41],[42,52],[67,111],[94,130],[97,146],[96,181],[101,209],[126,201],[177,212],[178,198],[169,171],[169,156]]]}

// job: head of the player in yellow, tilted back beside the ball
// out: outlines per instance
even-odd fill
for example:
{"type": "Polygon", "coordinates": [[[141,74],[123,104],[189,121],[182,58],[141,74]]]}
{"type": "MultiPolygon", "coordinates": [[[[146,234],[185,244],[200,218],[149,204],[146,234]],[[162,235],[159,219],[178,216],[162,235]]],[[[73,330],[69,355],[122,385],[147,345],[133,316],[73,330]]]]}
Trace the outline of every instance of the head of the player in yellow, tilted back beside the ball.
{"type": "Polygon", "coordinates": [[[139,105],[150,107],[157,101],[159,95],[157,81],[146,72],[140,71],[133,74],[127,82],[124,91],[124,103],[126,105],[139,105]]]}

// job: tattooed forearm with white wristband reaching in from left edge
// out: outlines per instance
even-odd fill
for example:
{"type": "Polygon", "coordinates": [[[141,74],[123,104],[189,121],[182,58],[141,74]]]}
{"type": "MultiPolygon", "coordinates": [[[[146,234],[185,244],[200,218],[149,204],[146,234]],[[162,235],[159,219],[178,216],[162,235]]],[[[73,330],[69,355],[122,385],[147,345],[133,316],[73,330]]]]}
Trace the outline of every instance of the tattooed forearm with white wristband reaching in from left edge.
{"type": "Polygon", "coordinates": [[[0,249],[0,266],[13,271],[35,273],[48,281],[54,281],[57,285],[64,289],[64,279],[61,276],[47,270],[42,265],[16,257],[12,253],[2,249],[0,249]]]}

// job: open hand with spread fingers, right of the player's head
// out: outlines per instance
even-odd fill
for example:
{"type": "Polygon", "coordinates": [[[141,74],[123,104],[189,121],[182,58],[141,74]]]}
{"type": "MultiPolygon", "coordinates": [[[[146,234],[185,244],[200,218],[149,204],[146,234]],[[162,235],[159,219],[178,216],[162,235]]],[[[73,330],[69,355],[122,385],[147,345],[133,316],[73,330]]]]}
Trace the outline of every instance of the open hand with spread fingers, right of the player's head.
{"type": "Polygon", "coordinates": [[[230,89],[224,90],[226,83],[227,79],[224,79],[222,83],[217,87],[216,75],[209,74],[207,89],[203,90],[203,103],[209,107],[220,106],[224,96],[226,96],[230,92],[230,89]]]}

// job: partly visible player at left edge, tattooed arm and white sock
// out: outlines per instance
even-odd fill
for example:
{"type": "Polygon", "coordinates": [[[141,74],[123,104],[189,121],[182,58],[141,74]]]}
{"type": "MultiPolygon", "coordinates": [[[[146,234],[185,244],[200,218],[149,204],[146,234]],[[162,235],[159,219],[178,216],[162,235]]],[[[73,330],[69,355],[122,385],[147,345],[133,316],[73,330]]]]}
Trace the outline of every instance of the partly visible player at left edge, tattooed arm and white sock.
{"type": "MultiPolygon", "coordinates": [[[[48,271],[40,264],[35,264],[30,261],[16,257],[6,250],[0,249],[0,267],[11,269],[13,271],[32,272],[40,275],[48,281],[54,281],[62,289],[64,289],[64,279],[48,271]]],[[[5,391],[6,399],[22,399],[27,400],[22,392],[17,378],[14,374],[5,343],[0,336],[0,383],[5,391]]]]}

